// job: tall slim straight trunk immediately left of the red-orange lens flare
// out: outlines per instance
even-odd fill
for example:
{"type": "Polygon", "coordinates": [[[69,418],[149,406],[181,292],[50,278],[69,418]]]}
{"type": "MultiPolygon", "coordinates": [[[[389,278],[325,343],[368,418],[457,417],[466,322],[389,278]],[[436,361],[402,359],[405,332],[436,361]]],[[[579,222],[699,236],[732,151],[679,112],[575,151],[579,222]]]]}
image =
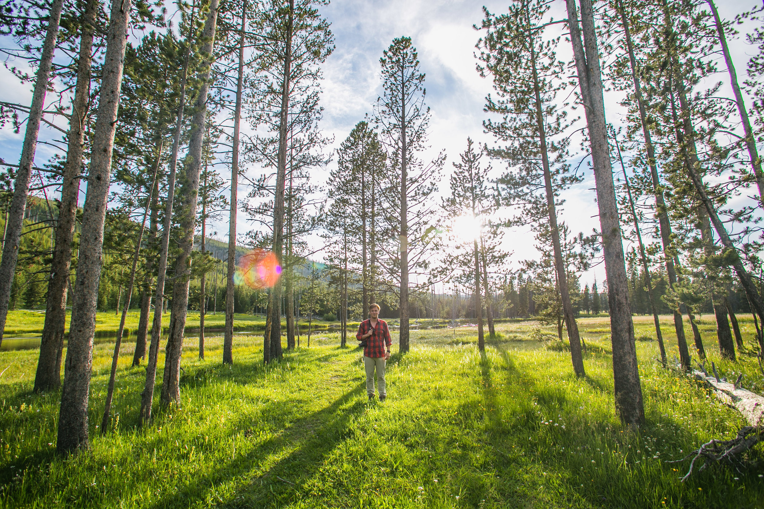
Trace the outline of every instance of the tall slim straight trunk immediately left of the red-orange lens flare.
{"type": "MultiPolygon", "coordinates": [[[[241,39],[239,40],[238,79],[236,80],[236,108],[234,111],[234,137],[231,153],[231,211],[228,214],[228,275],[225,279],[225,333],[223,334],[223,364],[233,364],[234,340],[234,275],[236,273],[236,210],[238,192],[238,145],[241,130],[241,97],[244,89],[244,31],[247,27],[247,2],[241,8],[241,39]]],[[[217,299],[217,287],[215,287],[217,299]]],[[[215,302],[217,309],[217,302],[215,302]]]]}

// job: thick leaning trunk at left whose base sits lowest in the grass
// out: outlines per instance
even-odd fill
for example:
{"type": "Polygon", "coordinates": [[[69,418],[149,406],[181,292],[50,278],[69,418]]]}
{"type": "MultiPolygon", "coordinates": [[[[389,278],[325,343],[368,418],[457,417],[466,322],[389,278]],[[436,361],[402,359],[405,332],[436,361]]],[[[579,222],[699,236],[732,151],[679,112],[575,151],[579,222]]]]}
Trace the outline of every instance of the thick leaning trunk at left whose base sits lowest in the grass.
{"type": "Polygon", "coordinates": [[[88,449],[88,401],[92,346],[95,336],[95,306],[101,278],[103,226],[111,179],[112,149],[117,125],[125,61],[125,32],[130,21],[131,0],[112,3],[108,42],[102,69],[98,117],[92,137],[88,191],[83,206],[74,304],[66,348],[56,451],[60,455],[88,449]]]}

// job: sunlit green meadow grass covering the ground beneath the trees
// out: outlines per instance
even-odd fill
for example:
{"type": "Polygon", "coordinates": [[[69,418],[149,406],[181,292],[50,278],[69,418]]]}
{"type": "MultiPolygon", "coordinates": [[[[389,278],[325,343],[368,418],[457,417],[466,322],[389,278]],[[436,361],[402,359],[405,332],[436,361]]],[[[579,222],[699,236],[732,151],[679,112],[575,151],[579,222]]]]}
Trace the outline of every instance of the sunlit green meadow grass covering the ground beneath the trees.
{"type": "MultiPolygon", "coordinates": [[[[650,334],[647,318],[635,318],[637,336],[650,334]]],[[[679,482],[687,465],[668,460],[745,423],[662,369],[656,342],[637,343],[646,424],[635,433],[613,408],[603,334],[584,334],[588,375],[576,379],[567,352],[529,340],[537,327],[501,324],[484,356],[474,328],[413,331],[412,351],[388,363],[387,401],[372,404],[360,351],[339,348],[336,333],[315,334],[310,349],[303,337],[267,367],[254,337],[235,337],[234,366],[220,363],[219,337],[204,362],[189,338],[182,404],[157,410],[144,429],[144,369],[128,367],[128,343],[106,437],[95,425],[110,345],[96,344],[92,450],[73,459],[54,454],[60,395],[31,393],[37,353],[0,352],[0,370],[9,366],[0,507],[764,507],[760,446],[749,455],[759,466],[713,466],[679,482]]],[[[584,328],[607,330],[607,318],[583,319],[584,328]]],[[[746,387],[761,391],[752,356],[721,361],[704,339],[723,375],[745,372],[746,387]]]]}

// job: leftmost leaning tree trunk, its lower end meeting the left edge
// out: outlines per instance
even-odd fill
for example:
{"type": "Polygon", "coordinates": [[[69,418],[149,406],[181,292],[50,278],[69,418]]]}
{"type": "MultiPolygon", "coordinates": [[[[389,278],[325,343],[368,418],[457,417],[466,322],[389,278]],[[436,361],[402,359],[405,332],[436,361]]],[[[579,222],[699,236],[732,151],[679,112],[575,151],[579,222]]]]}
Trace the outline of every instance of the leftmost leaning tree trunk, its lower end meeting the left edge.
{"type": "MultiPolygon", "coordinates": [[[[50,66],[53,63],[53,53],[56,50],[58,24],[61,18],[63,0],[53,0],[48,12],[48,27],[40,55],[40,66],[34,80],[32,104],[29,108],[27,130],[24,133],[24,145],[21,148],[21,159],[16,170],[16,181],[13,187],[11,207],[5,221],[5,243],[0,261],[0,345],[5,331],[5,319],[8,317],[8,304],[11,301],[11,285],[16,272],[18,260],[18,245],[21,240],[21,230],[24,229],[24,211],[27,209],[29,179],[34,164],[34,153],[37,150],[37,135],[40,133],[40,121],[45,107],[45,92],[50,80],[50,66]]],[[[74,112],[73,112],[74,114],[74,112]]]]}

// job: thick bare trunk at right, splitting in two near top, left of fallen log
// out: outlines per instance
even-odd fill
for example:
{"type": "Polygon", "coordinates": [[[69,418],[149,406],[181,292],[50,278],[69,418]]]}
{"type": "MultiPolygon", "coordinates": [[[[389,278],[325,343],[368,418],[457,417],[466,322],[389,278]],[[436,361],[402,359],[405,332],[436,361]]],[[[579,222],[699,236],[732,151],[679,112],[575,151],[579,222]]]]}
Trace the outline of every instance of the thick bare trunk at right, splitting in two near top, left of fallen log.
{"type": "Polygon", "coordinates": [[[581,86],[581,98],[584,102],[588,134],[591,141],[594,179],[597,185],[597,206],[600,212],[610,308],[610,340],[613,346],[616,408],[623,423],[639,426],[644,422],[645,411],[634,344],[629,281],[626,277],[626,263],[623,256],[618,207],[615,186],[613,185],[613,169],[610,166],[610,150],[607,143],[607,123],[605,121],[602,76],[597,50],[597,34],[594,27],[591,0],[580,1],[583,43],[578,27],[575,0],[566,0],[566,4],[578,82],[581,86]]]}

